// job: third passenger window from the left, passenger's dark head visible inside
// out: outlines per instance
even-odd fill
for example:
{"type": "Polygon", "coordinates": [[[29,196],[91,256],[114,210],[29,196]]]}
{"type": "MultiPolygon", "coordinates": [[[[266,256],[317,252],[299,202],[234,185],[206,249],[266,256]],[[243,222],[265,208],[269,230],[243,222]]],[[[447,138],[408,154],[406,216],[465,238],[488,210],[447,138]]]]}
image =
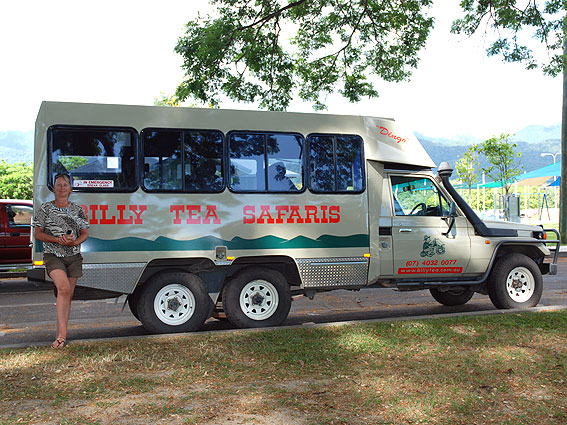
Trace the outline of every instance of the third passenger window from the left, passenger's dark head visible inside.
{"type": "Polygon", "coordinates": [[[229,135],[230,187],[242,192],[303,189],[303,137],[286,133],[229,135]]]}

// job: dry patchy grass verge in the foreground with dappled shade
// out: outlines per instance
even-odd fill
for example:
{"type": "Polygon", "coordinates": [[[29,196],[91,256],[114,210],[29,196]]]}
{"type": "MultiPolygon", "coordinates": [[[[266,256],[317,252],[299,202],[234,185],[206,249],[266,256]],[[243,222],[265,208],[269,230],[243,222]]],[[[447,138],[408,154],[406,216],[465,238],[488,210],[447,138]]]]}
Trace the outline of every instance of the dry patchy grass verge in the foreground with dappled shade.
{"type": "Polygon", "coordinates": [[[0,424],[565,424],[567,312],[0,351],[0,424]]]}

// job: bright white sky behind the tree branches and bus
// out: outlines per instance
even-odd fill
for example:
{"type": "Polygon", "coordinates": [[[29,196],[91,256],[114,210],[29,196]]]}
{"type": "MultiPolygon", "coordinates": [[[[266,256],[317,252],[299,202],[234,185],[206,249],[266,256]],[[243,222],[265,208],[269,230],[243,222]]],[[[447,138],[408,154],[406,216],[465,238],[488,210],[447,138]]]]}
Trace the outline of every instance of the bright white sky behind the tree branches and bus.
{"type": "MultiPolygon", "coordinates": [[[[562,79],[488,58],[490,39],[450,34],[458,3],[437,0],[428,12],[435,28],[409,82],[376,80],[380,97],[358,104],[330,96],[327,112],[391,117],[433,138],[558,124],[562,79]]],[[[177,39],[208,11],[207,0],[0,2],[0,131],[32,130],[43,100],[152,105],[173,94],[183,78],[177,39]]],[[[312,107],[294,102],[288,110],[312,107]]]]}

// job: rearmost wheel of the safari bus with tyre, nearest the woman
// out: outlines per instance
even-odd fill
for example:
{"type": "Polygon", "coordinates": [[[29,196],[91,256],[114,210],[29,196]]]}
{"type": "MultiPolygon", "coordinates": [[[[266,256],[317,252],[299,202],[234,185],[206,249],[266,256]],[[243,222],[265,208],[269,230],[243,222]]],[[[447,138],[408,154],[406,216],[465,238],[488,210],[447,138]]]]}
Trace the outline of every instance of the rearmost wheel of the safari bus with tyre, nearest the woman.
{"type": "Polygon", "coordinates": [[[152,333],[196,331],[211,310],[205,285],[194,274],[161,273],[141,289],[138,315],[152,333]]]}

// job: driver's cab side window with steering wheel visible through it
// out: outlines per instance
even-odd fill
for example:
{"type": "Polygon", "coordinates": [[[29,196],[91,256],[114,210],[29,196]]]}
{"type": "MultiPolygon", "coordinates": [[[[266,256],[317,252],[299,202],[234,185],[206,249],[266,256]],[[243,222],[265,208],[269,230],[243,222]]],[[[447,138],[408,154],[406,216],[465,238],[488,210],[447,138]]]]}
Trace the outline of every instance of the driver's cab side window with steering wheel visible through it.
{"type": "Polygon", "coordinates": [[[441,217],[448,214],[449,203],[430,179],[392,176],[391,182],[396,215],[441,217]]]}

